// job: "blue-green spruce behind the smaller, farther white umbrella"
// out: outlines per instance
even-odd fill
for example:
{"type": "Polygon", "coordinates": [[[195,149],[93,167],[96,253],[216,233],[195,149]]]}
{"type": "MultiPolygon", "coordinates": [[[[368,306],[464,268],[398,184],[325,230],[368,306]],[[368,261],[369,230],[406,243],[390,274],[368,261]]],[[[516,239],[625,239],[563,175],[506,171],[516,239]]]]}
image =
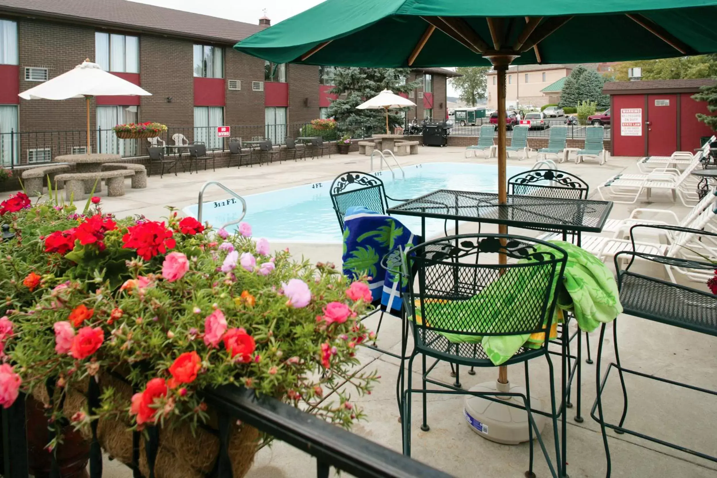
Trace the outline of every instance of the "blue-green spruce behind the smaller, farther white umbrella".
{"type": "MultiPolygon", "coordinates": [[[[404,83],[410,72],[409,68],[337,67],[330,93],[340,96],[331,102],[328,116],[336,120],[336,128],[341,133],[352,136],[383,133],[386,130],[384,110],[357,110],[356,107],[383,90],[391,90],[398,95],[419,87],[422,80],[404,83]]],[[[389,130],[403,123],[402,116],[389,112],[389,130]]]]}

